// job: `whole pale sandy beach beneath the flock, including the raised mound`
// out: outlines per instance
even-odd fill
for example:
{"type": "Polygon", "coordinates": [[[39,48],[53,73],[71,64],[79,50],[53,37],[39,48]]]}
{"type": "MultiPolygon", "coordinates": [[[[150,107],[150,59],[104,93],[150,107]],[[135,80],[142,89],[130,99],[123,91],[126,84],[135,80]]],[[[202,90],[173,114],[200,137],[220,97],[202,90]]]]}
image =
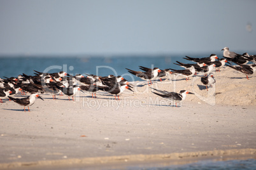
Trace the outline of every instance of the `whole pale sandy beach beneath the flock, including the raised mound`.
{"type": "Polygon", "coordinates": [[[75,101],[43,94],[45,101],[37,99],[31,112],[23,112],[6,100],[0,103],[0,169],[255,158],[256,77],[247,80],[231,68],[214,75],[209,91],[199,77],[153,82],[150,87],[196,94],[181,107],[151,93],[146,82],[132,82],[135,92],[125,91],[119,101],[102,91],[96,99],[79,93],[75,101]]]}

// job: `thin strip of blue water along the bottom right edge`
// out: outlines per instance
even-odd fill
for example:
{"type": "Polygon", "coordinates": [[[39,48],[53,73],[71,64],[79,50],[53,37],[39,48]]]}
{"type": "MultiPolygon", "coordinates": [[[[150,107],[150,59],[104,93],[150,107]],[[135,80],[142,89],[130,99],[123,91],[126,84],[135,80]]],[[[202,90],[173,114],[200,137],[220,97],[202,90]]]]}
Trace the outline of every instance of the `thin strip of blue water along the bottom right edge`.
{"type": "Polygon", "coordinates": [[[226,161],[211,161],[202,160],[192,164],[178,165],[178,166],[159,166],[159,167],[127,167],[126,170],[253,170],[256,169],[256,159],[246,160],[226,160],[226,161]]]}

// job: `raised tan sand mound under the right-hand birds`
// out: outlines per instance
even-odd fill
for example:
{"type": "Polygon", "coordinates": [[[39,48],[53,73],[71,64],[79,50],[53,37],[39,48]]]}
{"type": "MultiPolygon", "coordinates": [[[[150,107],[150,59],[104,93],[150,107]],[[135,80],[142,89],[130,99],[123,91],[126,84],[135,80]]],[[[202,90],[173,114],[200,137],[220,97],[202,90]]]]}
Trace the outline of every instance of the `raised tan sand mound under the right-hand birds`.
{"type": "MultiPolygon", "coordinates": [[[[153,82],[152,88],[175,91],[186,89],[195,95],[187,95],[186,101],[194,103],[208,103],[210,105],[255,105],[256,104],[256,76],[251,75],[246,79],[246,75],[233,70],[229,67],[224,67],[220,72],[213,72],[216,83],[213,87],[208,88],[201,82],[201,76],[197,75],[186,81],[184,77],[170,75],[169,79],[162,82],[159,80],[153,82]]],[[[145,82],[132,82],[136,85],[134,90],[136,95],[147,97],[152,89],[145,82]]],[[[154,94],[152,93],[152,95],[154,94]]]]}

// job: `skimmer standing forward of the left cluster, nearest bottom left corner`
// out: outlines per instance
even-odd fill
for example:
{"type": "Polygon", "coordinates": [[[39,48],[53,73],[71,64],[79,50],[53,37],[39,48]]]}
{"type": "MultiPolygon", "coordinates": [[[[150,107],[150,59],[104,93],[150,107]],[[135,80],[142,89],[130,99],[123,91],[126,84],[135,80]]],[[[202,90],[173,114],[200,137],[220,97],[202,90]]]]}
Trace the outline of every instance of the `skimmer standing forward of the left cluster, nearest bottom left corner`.
{"type": "Polygon", "coordinates": [[[37,93],[33,93],[30,96],[27,96],[25,98],[13,98],[11,96],[8,96],[8,98],[10,98],[10,100],[13,100],[15,103],[18,103],[19,105],[24,106],[24,111],[25,111],[25,106],[27,106],[27,108],[29,109],[29,106],[34,104],[34,101],[36,100],[36,98],[40,98],[41,100],[43,100],[43,98],[41,98],[41,96],[39,96],[37,93]]]}

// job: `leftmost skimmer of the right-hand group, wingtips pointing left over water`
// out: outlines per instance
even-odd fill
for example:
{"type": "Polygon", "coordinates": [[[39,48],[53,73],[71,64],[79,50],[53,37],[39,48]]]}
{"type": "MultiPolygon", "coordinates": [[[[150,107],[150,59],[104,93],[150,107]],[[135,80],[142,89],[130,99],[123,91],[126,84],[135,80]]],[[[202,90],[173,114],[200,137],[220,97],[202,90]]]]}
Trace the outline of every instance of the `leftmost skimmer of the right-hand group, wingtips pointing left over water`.
{"type": "Polygon", "coordinates": [[[143,69],[143,68],[145,68],[145,70],[147,70],[147,71],[146,72],[141,72],[141,71],[134,71],[134,70],[130,70],[130,69],[127,69],[127,70],[128,70],[129,73],[131,73],[133,75],[136,75],[137,77],[139,77],[143,80],[147,80],[148,81],[148,86],[149,86],[149,81],[150,81],[150,84],[152,84],[151,80],[155,79],[155,77],[157,77],[158,73],[161,70],[157,67],[155,67],[153,69],[148,69],[146,67],[141,67],[140,69],[143,69]]]}

